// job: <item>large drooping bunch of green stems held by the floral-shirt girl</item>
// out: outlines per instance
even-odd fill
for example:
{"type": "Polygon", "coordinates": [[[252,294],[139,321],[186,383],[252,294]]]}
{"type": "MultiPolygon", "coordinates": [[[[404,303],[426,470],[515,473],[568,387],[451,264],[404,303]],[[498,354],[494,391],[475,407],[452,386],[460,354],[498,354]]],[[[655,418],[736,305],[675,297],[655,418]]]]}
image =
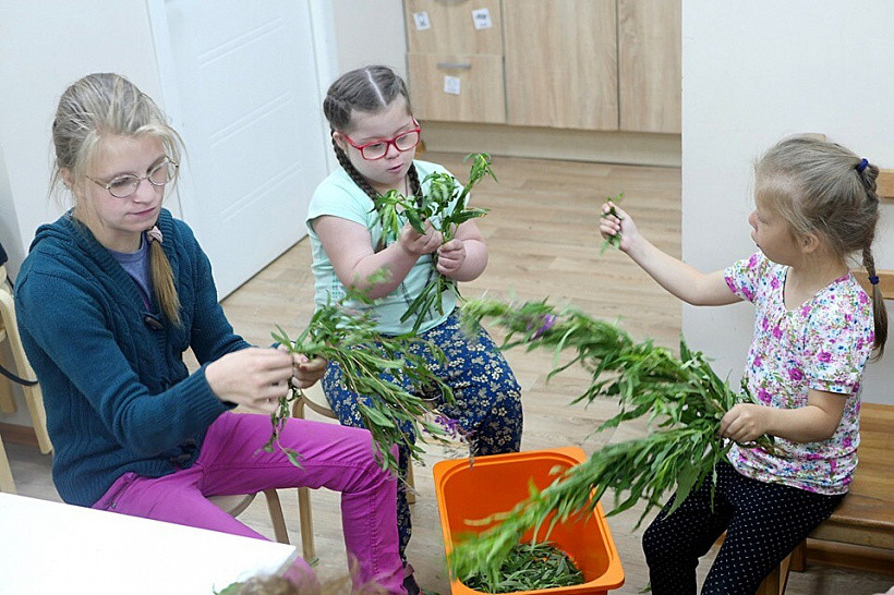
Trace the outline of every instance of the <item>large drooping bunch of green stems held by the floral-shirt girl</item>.
{"type": "MultiPolygon", "coordinates": [[[[504,349],[523,344],[529,351],[552,350],[548,377],[575,364],[589,371],[590,386],[572,402],[611,397],[620,404],[620,412],[597,432],[644,415],[655,430],[594,452],[542,491],[532,488],[528,500],[495,517],[500,524],[454,549],[450,567],[460,578],[472,572],[497,573],[525,531],[539,527],[553,513],[549,526],[591,511],[609,489],[615,506],[608,514],[644,499],[642,522],[650,510],[661,507],[662,495],[676,487],[673,512],[709,475],[712,482],[716,479],[714,467],[732,446],[717,437],[723,415],[738,402],[752,402],[747,390],[733,391],[685,341],[680,340],[680,356],[675,357],[669,350],[651,341],[636,342],[616,325],[593,319],[572,306],[557,312],[545,301],[514,305],[474,300],[463,305],[462,315],[470,323],[495,318],[507,331],[504,349]],[[572,356],[560,363],[559,355],[566,350],[572,356]]],[[[752,446],[772,451],[773,438],[762,436],[752,446]]]]}

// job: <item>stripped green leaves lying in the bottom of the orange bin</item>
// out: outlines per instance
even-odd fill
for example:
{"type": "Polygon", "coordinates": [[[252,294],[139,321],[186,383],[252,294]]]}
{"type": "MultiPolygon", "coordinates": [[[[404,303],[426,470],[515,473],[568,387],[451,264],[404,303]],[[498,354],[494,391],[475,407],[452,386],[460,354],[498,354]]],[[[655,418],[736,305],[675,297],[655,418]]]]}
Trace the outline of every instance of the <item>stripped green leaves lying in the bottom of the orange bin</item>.
{"type": "Polygon", "coordinates": [[[483,593],[516,593],[583,584],[583,573],[552,544],[516,544],[497,576],[473,573],[462,583],[483,593]]]}

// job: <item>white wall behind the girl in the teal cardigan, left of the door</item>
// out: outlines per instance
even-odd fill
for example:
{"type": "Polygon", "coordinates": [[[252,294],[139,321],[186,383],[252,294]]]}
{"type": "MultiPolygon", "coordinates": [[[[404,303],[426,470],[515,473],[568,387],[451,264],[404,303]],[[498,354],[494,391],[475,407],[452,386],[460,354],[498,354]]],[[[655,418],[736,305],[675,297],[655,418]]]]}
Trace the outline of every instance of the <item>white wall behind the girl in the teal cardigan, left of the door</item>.
{"type": "MultiPolygon", "coordinates": [[[[161,98],[144,0],[0,0],[0,241],[19,271],[34,232],[61,212],[48,198],[50,126],[59,96],[90,72],[126,74],[161,98]]],[[[3,363],[10,365],[4,350],[3,363]]],[[[31,425],[19,411],[0,423],[31,425]]]]}

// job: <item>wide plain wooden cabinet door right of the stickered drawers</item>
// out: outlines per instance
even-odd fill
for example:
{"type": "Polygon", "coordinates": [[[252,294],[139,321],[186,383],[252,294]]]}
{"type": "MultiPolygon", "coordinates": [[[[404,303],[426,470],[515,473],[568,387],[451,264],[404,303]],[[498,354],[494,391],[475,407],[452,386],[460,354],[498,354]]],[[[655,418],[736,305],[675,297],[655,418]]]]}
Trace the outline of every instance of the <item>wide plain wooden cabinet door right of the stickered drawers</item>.
{"type": "Polygon", "coordinates": [[[617,130],[615,0],[503,4],[510,124],[617,130]]]}

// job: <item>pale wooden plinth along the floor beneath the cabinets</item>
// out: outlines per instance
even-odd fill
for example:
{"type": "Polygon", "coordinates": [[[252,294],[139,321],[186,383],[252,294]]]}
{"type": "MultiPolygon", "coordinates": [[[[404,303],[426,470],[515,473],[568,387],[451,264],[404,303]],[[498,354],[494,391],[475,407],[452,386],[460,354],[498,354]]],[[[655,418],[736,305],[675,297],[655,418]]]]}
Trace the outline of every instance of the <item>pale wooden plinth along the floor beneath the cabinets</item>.
{"type": "Polygon", "coordinates": [[[674,168],[682,162],[679,134],[433,121],[422,126],[425,149],[432,151],[674,168]]]}

